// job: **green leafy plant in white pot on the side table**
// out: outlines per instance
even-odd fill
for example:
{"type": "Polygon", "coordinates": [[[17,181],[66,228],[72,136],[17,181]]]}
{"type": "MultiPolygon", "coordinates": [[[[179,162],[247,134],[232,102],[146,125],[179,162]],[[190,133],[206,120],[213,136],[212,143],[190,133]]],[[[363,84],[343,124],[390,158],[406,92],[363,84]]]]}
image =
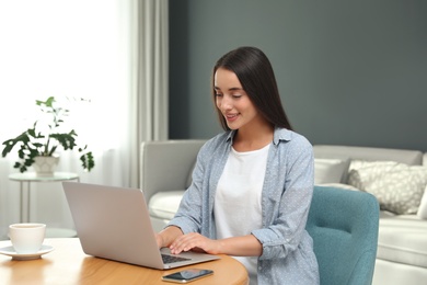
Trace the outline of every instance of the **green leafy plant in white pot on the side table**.
{"type": "Polygon", "coordinates": [[[46,101],[36,100],[36,105],[46,114],[47,121],[37,119],[31,128],[18,137],[4,140],[2,157],[5,157],[18,147],[19,161],[15,162],[13,168],[25,172],[33,166],[37,175],[51,175],[53,170],[43,169],[45,166],[37,167],[37,161],[43,160],[43,163],[46,164],[49,163],[46,159],[50,158],[57,163],[58,158],[55,151],[58,147],[62,147],[64,150],[76,148],[81,152],[80,160],[83,169],[91,171],[95,166],[92,151],[88,151],[88,146],[79,147],[77,145],[76,138],[78,135],[74,129],[69,132],[60,129],[64,117],[68,116],[70,111],[57,106],[55,103],[54,96],[49,96],[46,101]]]}

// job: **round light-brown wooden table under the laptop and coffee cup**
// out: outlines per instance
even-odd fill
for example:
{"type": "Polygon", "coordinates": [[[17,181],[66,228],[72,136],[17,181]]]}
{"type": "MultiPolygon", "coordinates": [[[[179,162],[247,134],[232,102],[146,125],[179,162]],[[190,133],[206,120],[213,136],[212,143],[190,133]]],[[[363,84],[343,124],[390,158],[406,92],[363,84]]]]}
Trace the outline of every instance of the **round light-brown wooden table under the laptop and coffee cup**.
{"type": "MultiPolygon", "coordinates": [[[[183,269],[214,270],[214,275],[191,284],[249,284],[245,267],[233,258],[161,271],[93,258],[84,254],[78,238],[46,239],[44,244],[55,248],[42,259],[15,261],[0,254],[0,284],[173,284],[162,282],[161,276],[183,269]]],[[[0,248],[11,246],[0,241],[0,248]]]]}

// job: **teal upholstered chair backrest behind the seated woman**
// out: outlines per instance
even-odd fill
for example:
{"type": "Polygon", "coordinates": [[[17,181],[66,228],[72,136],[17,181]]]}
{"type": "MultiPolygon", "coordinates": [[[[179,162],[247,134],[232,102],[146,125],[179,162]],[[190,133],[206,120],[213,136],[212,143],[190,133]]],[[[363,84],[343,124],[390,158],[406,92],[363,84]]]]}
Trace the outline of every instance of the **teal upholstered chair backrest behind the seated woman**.
{"type": "Polygon", "coordinates": [[[321,284],[372,283],[379,204],[366,192],[314,186],[307,230],[313,238],[321,284]]]}

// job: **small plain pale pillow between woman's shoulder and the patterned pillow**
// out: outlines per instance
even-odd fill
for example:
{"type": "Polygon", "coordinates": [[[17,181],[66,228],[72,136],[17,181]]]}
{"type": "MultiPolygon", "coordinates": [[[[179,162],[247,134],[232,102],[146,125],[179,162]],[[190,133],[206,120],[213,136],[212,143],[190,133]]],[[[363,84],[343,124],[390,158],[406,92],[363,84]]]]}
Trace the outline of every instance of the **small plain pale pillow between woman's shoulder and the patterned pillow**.
{"type": "Polygon", "coordinates": [[[314,159],[314,184],[345,182],[348,173],[349,159],[314,159]]]}

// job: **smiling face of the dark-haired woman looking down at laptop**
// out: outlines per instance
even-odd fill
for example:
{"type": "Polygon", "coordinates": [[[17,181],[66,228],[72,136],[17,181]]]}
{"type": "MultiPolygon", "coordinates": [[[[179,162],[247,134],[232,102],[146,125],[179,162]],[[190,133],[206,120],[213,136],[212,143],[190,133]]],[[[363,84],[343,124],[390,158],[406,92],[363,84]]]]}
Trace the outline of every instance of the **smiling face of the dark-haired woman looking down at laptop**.
{"type": "Polygon", "coordinates": [[[254,119],[261,118],[233,71],[219,68],[215,73],[214,83],[217,107],[230,129],[247,127],[254,119]]]}

